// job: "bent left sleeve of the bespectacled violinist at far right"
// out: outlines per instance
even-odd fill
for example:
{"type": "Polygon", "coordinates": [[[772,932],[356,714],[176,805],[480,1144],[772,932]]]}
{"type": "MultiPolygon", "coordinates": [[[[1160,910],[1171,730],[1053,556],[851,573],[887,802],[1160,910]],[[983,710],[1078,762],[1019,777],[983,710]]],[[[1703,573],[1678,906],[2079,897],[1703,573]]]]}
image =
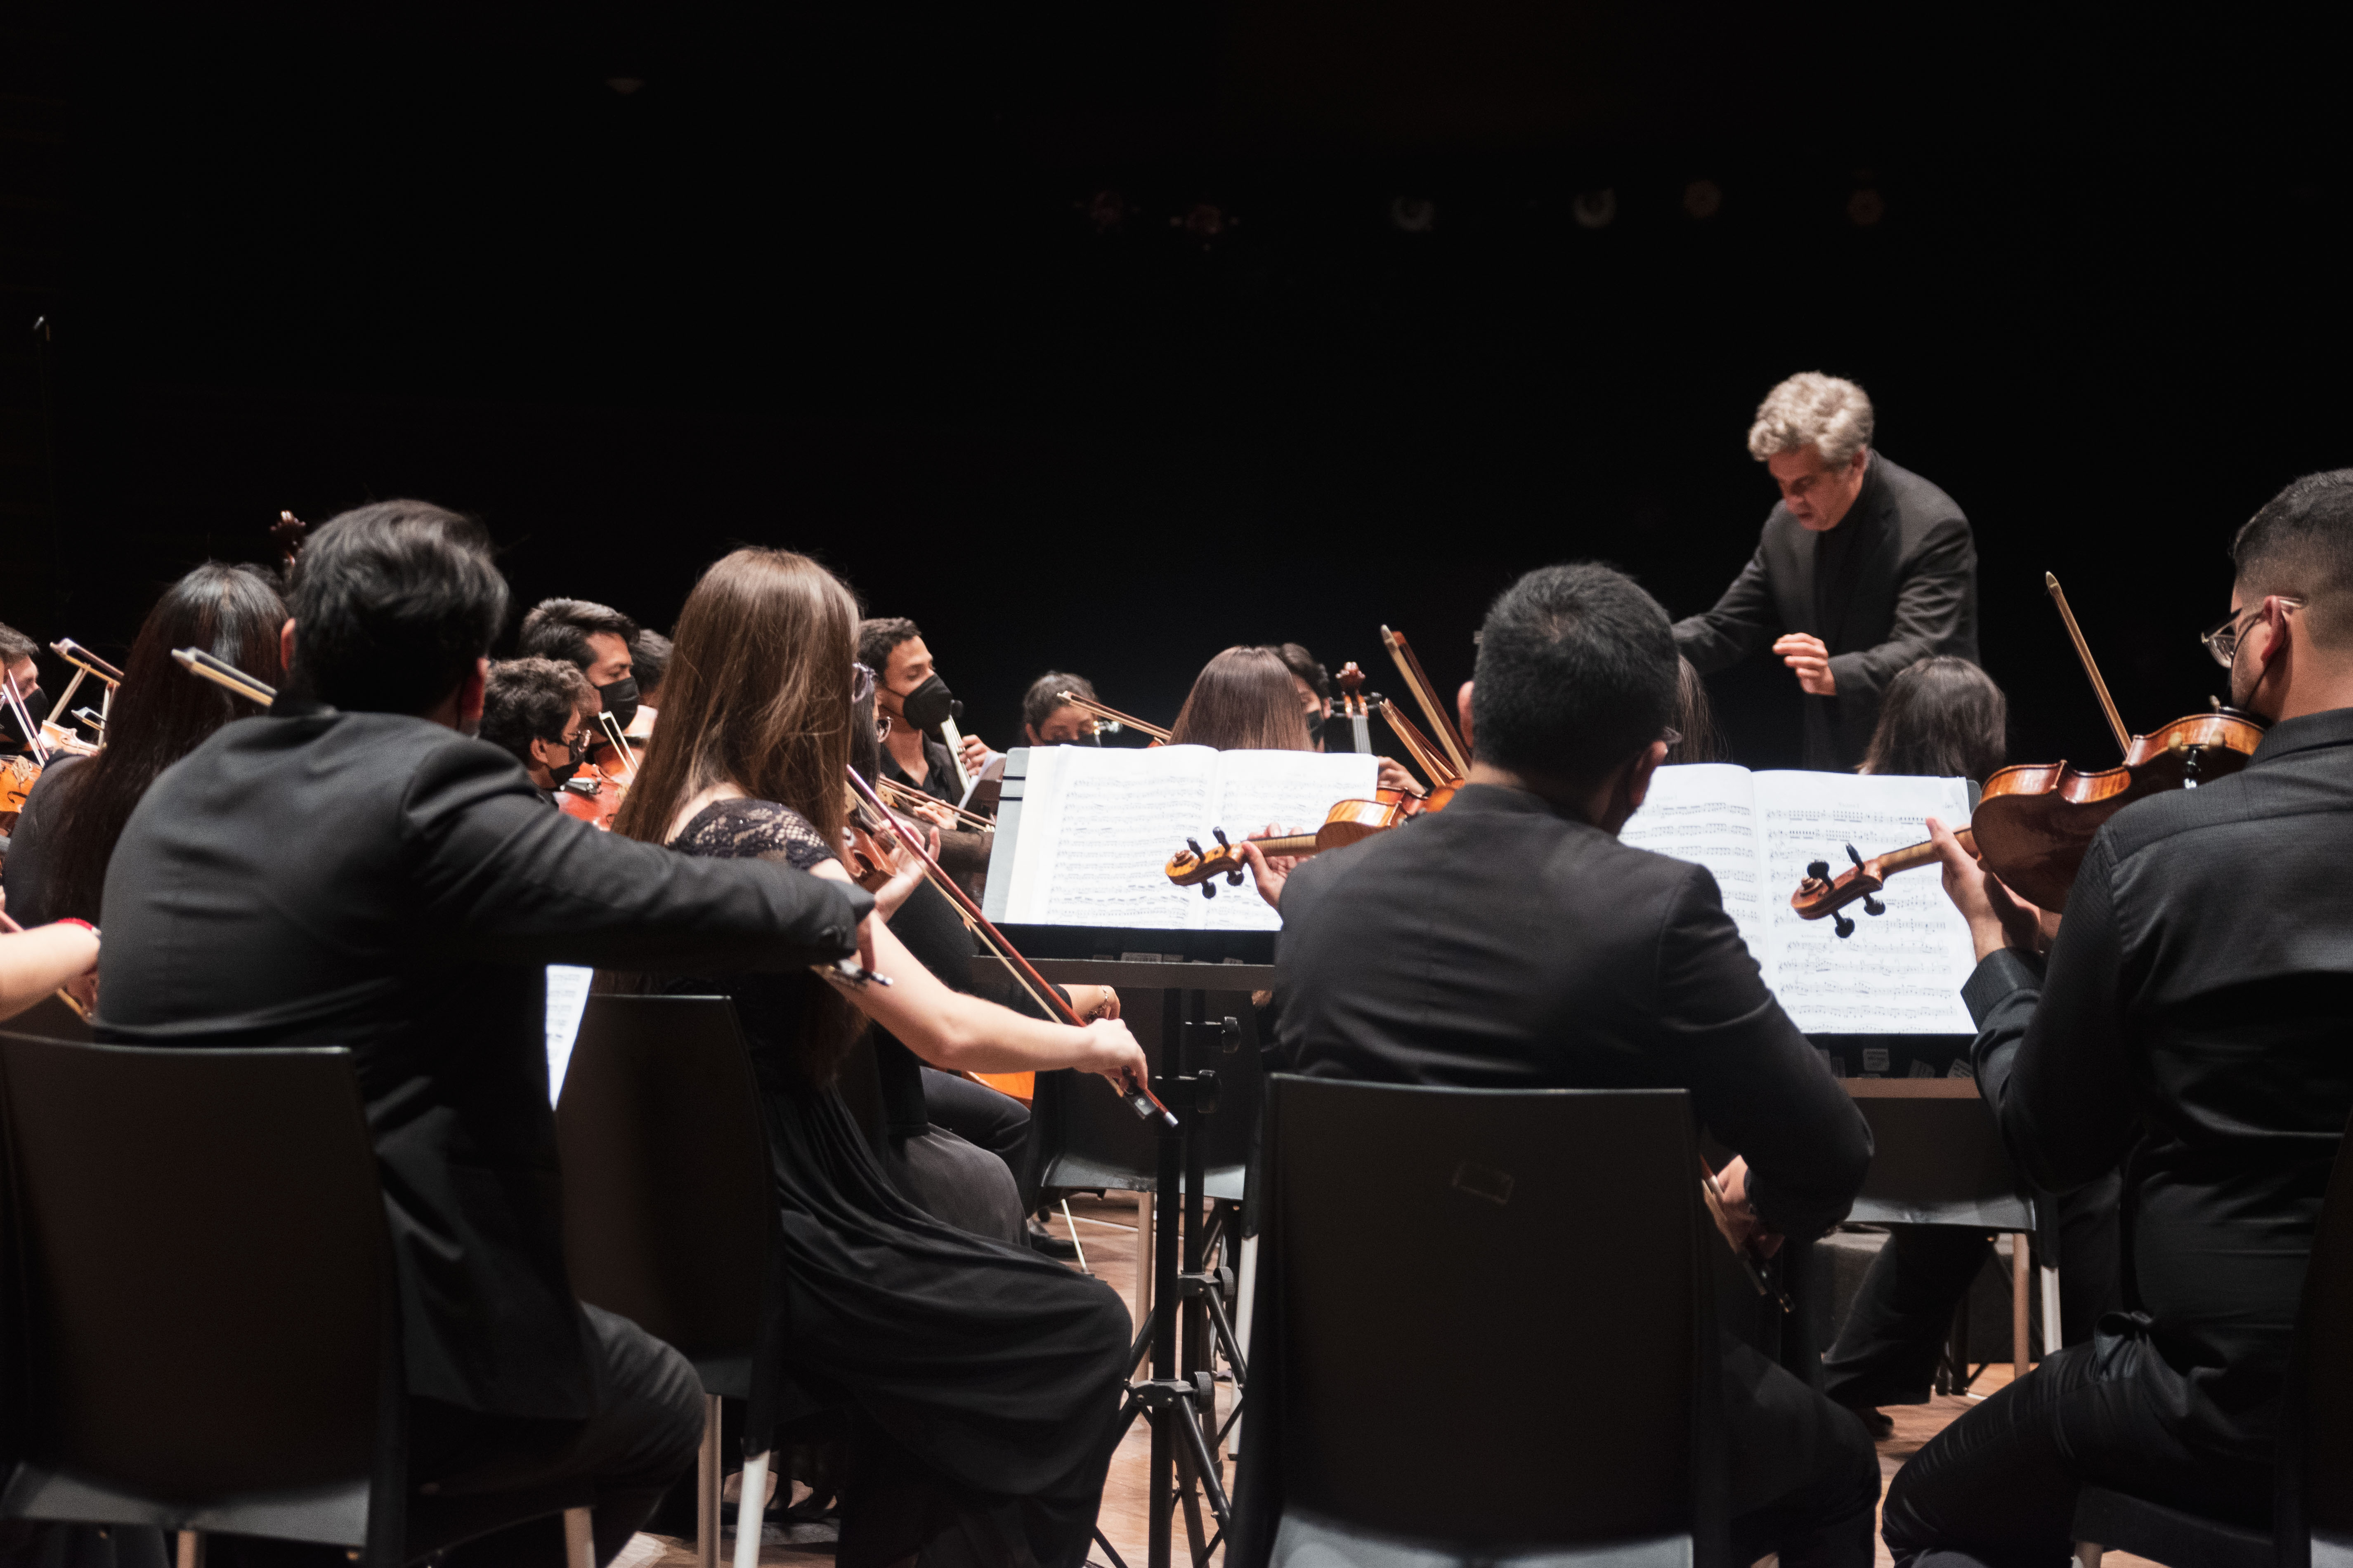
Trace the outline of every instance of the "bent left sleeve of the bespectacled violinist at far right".
{"type": "Polygon", "coordinates": [[[2005,947],[1960,990],[1977,1020],[1977,1088],[2012,1164],[2049,1192],[2099,1180],[2134,1140],[2113,865],[2104,832],[2075,875],[2047,971],[2005,947]]]}

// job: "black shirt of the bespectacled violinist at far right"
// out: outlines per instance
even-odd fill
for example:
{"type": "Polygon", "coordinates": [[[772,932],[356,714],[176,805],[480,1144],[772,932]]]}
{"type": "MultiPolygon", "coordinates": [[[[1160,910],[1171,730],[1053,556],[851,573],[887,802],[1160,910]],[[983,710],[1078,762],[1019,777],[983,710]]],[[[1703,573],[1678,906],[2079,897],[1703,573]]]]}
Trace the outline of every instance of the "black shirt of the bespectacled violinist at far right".
{"type": "Polygon", "coordinates": [[[2019,1168],[2125,1161],[2125,1302],[2177,1436],[2268,1462],[2304,1265],[2353,1114],[2353,708],[2271,726],[2245,771],[2120,811],[2047,973],[1962,997],[2019,1168]]]}

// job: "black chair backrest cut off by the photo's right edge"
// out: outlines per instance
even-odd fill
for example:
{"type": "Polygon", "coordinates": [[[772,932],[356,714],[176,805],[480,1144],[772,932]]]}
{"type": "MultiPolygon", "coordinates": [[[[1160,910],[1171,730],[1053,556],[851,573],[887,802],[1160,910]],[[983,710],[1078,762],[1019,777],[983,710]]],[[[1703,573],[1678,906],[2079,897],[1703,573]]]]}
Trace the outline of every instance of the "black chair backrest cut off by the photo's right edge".
{"type": "Polygon", "coordinates": [[[2313,1227],[2282,1401],[2280,1561],[2353,1568],[2353,1126],[2313,1227]]]}

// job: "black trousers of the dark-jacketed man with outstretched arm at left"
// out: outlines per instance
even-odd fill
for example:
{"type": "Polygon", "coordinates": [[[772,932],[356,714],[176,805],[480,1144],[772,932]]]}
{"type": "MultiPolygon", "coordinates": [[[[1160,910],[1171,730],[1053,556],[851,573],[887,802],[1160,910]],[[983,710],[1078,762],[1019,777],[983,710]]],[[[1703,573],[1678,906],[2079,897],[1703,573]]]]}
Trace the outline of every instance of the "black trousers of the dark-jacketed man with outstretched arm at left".
{"type": "MultiPolygon", "coordinates": [[[[595,1509],[595,1561],[609,1563],[694,1462],[704,1389],[675,1349],[624,1316],[584,1307],[600,1401],[586,1420],[485,1415],[409,1399],[412,1563],[562,1568],[562,1509],[595,1509]],[[518,1523],[520,1521],[520,1523],[518,1523]]],[[[341,1547],[256,1537],[209,1542],[216,1568],[341,1563],[341,1547]]]]}

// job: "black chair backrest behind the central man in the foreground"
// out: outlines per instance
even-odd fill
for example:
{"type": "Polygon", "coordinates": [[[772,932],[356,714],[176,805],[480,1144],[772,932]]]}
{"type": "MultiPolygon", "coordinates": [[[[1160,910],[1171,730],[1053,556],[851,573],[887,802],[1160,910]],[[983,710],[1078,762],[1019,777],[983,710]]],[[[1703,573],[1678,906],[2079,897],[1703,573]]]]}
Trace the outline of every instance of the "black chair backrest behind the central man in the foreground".
{"type": "Polygon", "coordinates": [[[1233,1561],[1725,1563],[1697,1166],[1682,1091],[1268,1079],[1233,1561]]]}

